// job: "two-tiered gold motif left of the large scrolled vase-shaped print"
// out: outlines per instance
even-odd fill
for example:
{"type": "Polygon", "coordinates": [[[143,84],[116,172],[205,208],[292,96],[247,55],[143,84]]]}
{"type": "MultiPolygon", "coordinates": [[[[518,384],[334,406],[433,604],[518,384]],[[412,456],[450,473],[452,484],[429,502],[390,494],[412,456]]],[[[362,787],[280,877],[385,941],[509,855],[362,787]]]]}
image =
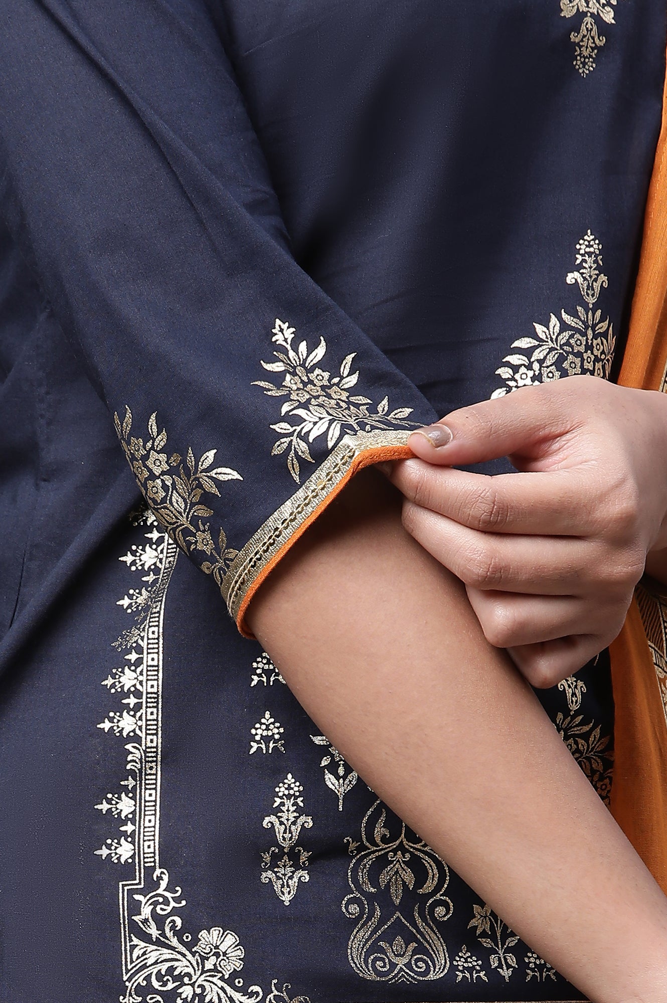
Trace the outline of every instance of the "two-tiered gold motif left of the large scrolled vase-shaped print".
{"type": "Polygon", "coordinates": [[[291,773],[276,787],[273,806],[278,810],[267,815],[262,824],[265,828],[273,826],[278,846],[262,853],[262,881],[266,885],[271,883],[280,901],[289,906],[299,883],[310,879],[307,871],[310,851],[297,847],[297,840],[302,828],[313,825],[311,816],[301,813],[303,787],[291,773]],[[281,851],[283,856],[274,861],[274,855],[278,857],[281,851]]]}

